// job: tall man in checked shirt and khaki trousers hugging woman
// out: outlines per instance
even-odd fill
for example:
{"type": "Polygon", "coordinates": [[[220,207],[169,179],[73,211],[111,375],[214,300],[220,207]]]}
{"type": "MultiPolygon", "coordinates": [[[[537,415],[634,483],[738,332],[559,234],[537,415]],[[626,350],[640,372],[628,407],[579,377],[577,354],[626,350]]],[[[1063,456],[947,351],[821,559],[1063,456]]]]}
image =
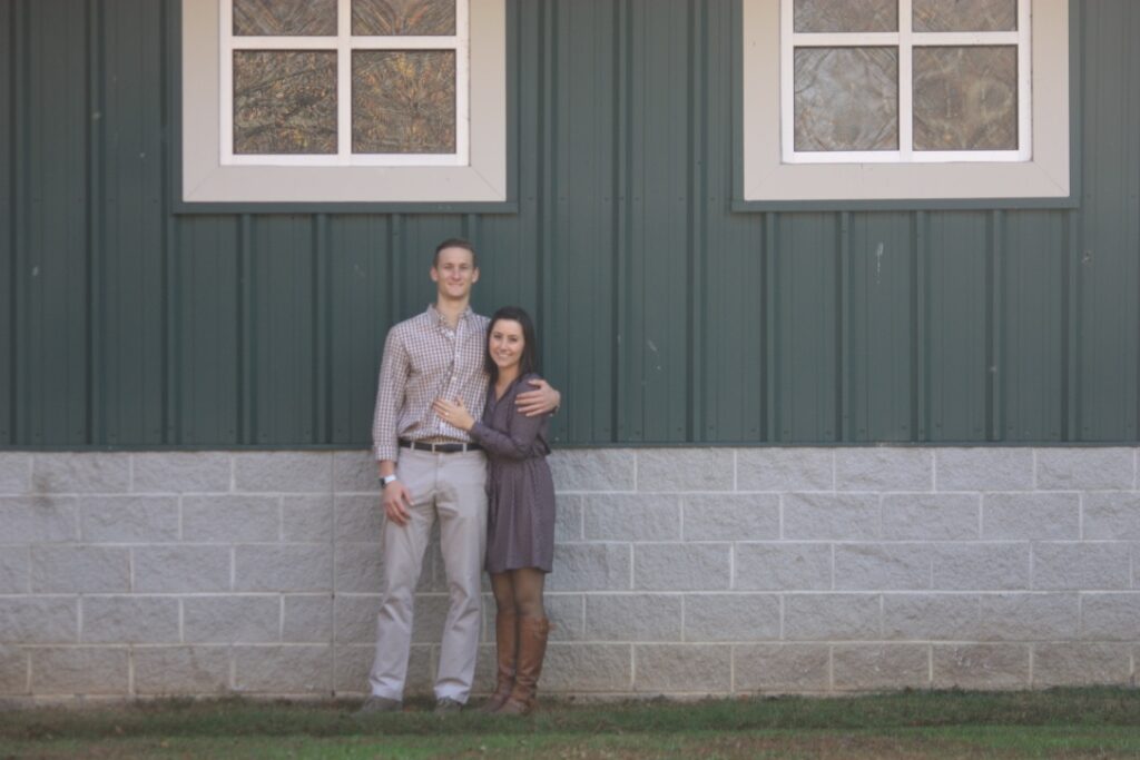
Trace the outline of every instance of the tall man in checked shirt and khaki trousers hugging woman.
{"type": "MultiPolygon", "coordinates": [[[[475,671],[480,578],[487,545],[487,459],[470,436],[440,419],[437,398],[462,399],[477,418],[487,399],[487,318],[471,311],[479,262],[466,240],[439,244],[435,303],[394,326],[384,342],[373,443],[383,483],[384,589],[376,624],[372,696],[361,713],[399,710],[412,646],[412,608],[437,516],[450,606],[435,677],[435,711],[466,703],[475,671]]],[[[546,383],[519,397],[523,414],[546,414],[560,395],[546,383]]]]}

